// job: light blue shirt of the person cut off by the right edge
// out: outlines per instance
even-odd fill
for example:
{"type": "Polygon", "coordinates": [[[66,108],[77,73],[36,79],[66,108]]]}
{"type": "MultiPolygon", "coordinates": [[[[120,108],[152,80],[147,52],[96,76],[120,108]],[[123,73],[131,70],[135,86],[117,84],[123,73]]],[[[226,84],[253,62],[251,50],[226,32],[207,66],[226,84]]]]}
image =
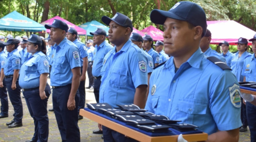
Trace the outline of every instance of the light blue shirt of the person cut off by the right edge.
{"type": "Polygon", "coordinates": [[[246,81],[256,81],[256,58],[255,54],[247,57],[244,60],[242,75],[245,76],[246,81]]]}

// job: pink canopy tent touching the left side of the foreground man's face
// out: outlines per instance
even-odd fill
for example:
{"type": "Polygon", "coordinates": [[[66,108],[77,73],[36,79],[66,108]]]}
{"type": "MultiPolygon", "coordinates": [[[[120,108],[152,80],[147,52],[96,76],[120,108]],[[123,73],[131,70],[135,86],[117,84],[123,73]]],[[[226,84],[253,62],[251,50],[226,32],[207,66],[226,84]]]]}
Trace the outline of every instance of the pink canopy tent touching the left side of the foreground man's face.
{"type": "Polygon", "coordinates": [[[157,29],[152,25],[146,27],[140,32],[150,35],[154,41],[164,41],[164,37],[163,37],[164,32],[162,32],[161,30],[157,29]]]}

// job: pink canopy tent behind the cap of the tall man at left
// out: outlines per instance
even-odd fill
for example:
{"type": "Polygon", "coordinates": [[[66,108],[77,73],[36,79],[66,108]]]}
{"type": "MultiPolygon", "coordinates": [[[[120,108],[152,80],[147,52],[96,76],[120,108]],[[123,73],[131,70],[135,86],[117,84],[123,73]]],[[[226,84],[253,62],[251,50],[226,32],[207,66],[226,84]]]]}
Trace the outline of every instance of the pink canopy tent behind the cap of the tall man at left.
{"type": "MultiPolygon", "coordinates": [[[[52,24],[52,22],[53,22],[54,19],[59,19],[59,20],[65,22],[65,23],[67,23],[67,24],[68,24],[68,27],[75,28],[76,31],[77,31],[77,34],[79,34],[79,35],[86,35],[86,30],[84,30],[84,29],[80,28],[79,26],[76,26],[76,25],[74,25],[74,24],[68,22],[68,21],[65,20],[65,19],[60,18],[59,16],[52,17],[51,19],[48,19],[48,20],[46,20],[46,21],[44,21],[44,22],[42,22],[42,23],[40,23],[40,24],[42,24],[42,25],[45,25],[45,24],[52,24]]],[[[47,33],[50,33],[50,29],[47,29],[46,32],[47,32],[47,33]]]]}

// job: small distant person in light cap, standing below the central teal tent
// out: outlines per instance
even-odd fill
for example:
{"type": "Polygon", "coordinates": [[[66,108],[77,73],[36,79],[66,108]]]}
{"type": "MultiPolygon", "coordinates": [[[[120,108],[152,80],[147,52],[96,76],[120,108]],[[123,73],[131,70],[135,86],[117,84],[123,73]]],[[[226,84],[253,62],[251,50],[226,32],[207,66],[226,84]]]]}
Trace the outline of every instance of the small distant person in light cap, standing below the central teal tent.
{"type": "Polygon", "coordinates": [[[87,74],[89,78],[89,86],[86,87],[87,89],[93,89],[93,80],[94,77],[92,76],[92,64],[93,64],[93,41],[88,40],[86,41],[86,47],[87,47],[87,53],[88,53],[88,68],[87,68],[87,74]]]}

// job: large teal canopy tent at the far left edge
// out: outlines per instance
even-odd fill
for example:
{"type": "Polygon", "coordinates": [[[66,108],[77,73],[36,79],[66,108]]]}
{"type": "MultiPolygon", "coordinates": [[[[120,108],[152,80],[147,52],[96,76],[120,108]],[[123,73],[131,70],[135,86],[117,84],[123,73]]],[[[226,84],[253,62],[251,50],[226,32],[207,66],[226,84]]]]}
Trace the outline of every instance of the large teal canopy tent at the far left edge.
{"type": "Polygon", "coordinates": [[[46,31],[44,25],[29,19],[17,11],[12,11],[0,19],[0,30],[18,32],[43,32],[46,31]]]}

